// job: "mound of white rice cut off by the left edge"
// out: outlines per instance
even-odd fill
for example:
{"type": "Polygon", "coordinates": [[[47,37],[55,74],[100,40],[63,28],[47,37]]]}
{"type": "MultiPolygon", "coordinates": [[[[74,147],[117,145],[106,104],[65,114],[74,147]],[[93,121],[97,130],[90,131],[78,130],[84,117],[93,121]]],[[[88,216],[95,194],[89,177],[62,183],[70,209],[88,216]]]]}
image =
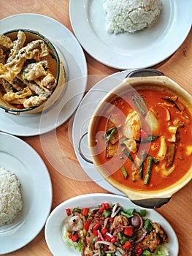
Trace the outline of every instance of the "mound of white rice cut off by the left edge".
{"type": "Polygon", "coordinates": [[[0,167],[0,226],[12,223],[22,207],[20,181],[15,173],[0,167]]]}

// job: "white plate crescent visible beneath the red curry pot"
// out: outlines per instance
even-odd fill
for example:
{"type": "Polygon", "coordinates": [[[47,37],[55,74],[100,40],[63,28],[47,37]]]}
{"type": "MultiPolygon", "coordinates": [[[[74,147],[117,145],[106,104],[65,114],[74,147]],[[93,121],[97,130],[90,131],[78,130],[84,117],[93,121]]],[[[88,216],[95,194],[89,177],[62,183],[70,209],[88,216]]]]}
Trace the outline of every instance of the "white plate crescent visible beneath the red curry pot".
{"type": "MultiPolygon", "coordinates": [[[[118,189],[115,189],[115,187],[112,187],[111,184],[109,184],[106,180],[104,180],[104,178],[101,176],[99,171],[96,170],[96,167],[94,167],[93,164],[86,162],[84,159],[82,159],[79,151],[79,142],[82,135],[84,135],[85,132],[88,132],[89,121],[97,105],[101,101],[101,99],[110,90],[114,89],[115,86],[121,83],[123,81],[123,78],[125,78],[128,72],[130,71],[131,70],[125,70],[122,72],[115,73],[113,75],[110,75],[100,80],[99,83],[96,83],[96,85],[93,86],[93,88],[89,90],[88,93],[85,95],[85,97],[82,99],[82,102],[80,102],[80,105],[77,108],[77,111],[74,116],[74,122],[72,127],[72,140],[73,140],[74,151],[78,161],[80,162],[81,167],[83,168],[85,173],[93,181],[96,182],[96,184],[106,189],[107,191],[117,195],[124,195],[124,194],[120,192],[118,189]]],[[[82,139],[81,149],[85,157],[87,157],[88,159],[91,159],[91,157],[89,157],[90,154],[89,154],[87,136],[85,136],[85,138],[82,139]]]]}

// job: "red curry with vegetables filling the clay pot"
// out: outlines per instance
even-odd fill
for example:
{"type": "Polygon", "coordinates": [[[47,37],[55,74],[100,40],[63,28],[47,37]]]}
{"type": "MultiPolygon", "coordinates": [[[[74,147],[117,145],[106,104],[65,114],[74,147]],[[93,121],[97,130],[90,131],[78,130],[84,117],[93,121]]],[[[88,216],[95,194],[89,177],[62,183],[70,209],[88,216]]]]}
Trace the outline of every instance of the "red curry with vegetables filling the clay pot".
{"type": "Polygon", "coordinates": [[[166,89],[114,95],[97,118],[94,152],[106,176],[130,189],[171,186],[191,167],[190,103],[166,89]]]}

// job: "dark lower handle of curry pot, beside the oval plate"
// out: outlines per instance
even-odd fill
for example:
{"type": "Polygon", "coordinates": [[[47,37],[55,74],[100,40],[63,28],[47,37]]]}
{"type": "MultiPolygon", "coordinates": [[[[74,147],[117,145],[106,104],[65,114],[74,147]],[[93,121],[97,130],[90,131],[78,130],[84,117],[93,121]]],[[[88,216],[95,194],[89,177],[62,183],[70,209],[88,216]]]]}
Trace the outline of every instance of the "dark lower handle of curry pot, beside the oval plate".
{"type": "Polygon", "coordinates": [[[147,199],[140,199],[140,200],[131,200],[137,206],[141,206],[144,208],[160,208],[164,204],[168,203],[171,197],[166,198],[147,198],[147,199]]]}

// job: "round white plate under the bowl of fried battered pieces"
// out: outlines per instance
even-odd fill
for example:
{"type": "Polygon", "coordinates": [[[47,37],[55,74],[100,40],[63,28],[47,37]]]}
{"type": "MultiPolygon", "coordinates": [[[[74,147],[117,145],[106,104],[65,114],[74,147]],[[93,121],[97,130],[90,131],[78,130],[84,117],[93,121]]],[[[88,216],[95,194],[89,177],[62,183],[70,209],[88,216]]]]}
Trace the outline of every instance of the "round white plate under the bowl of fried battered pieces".
{"type": "Polygon", "coordinates": [[[87,64],[82,48],[69,29],[58,21],[37,14],[20,14],[0,20],[0,34],[12,29],[33,29],[50,39],[66,68],[68,83],[60,99],[43,113],[15,116],[0,110],[0,130],[17,136],[50,132],[72,116],[87,83],[87,64]]]}

